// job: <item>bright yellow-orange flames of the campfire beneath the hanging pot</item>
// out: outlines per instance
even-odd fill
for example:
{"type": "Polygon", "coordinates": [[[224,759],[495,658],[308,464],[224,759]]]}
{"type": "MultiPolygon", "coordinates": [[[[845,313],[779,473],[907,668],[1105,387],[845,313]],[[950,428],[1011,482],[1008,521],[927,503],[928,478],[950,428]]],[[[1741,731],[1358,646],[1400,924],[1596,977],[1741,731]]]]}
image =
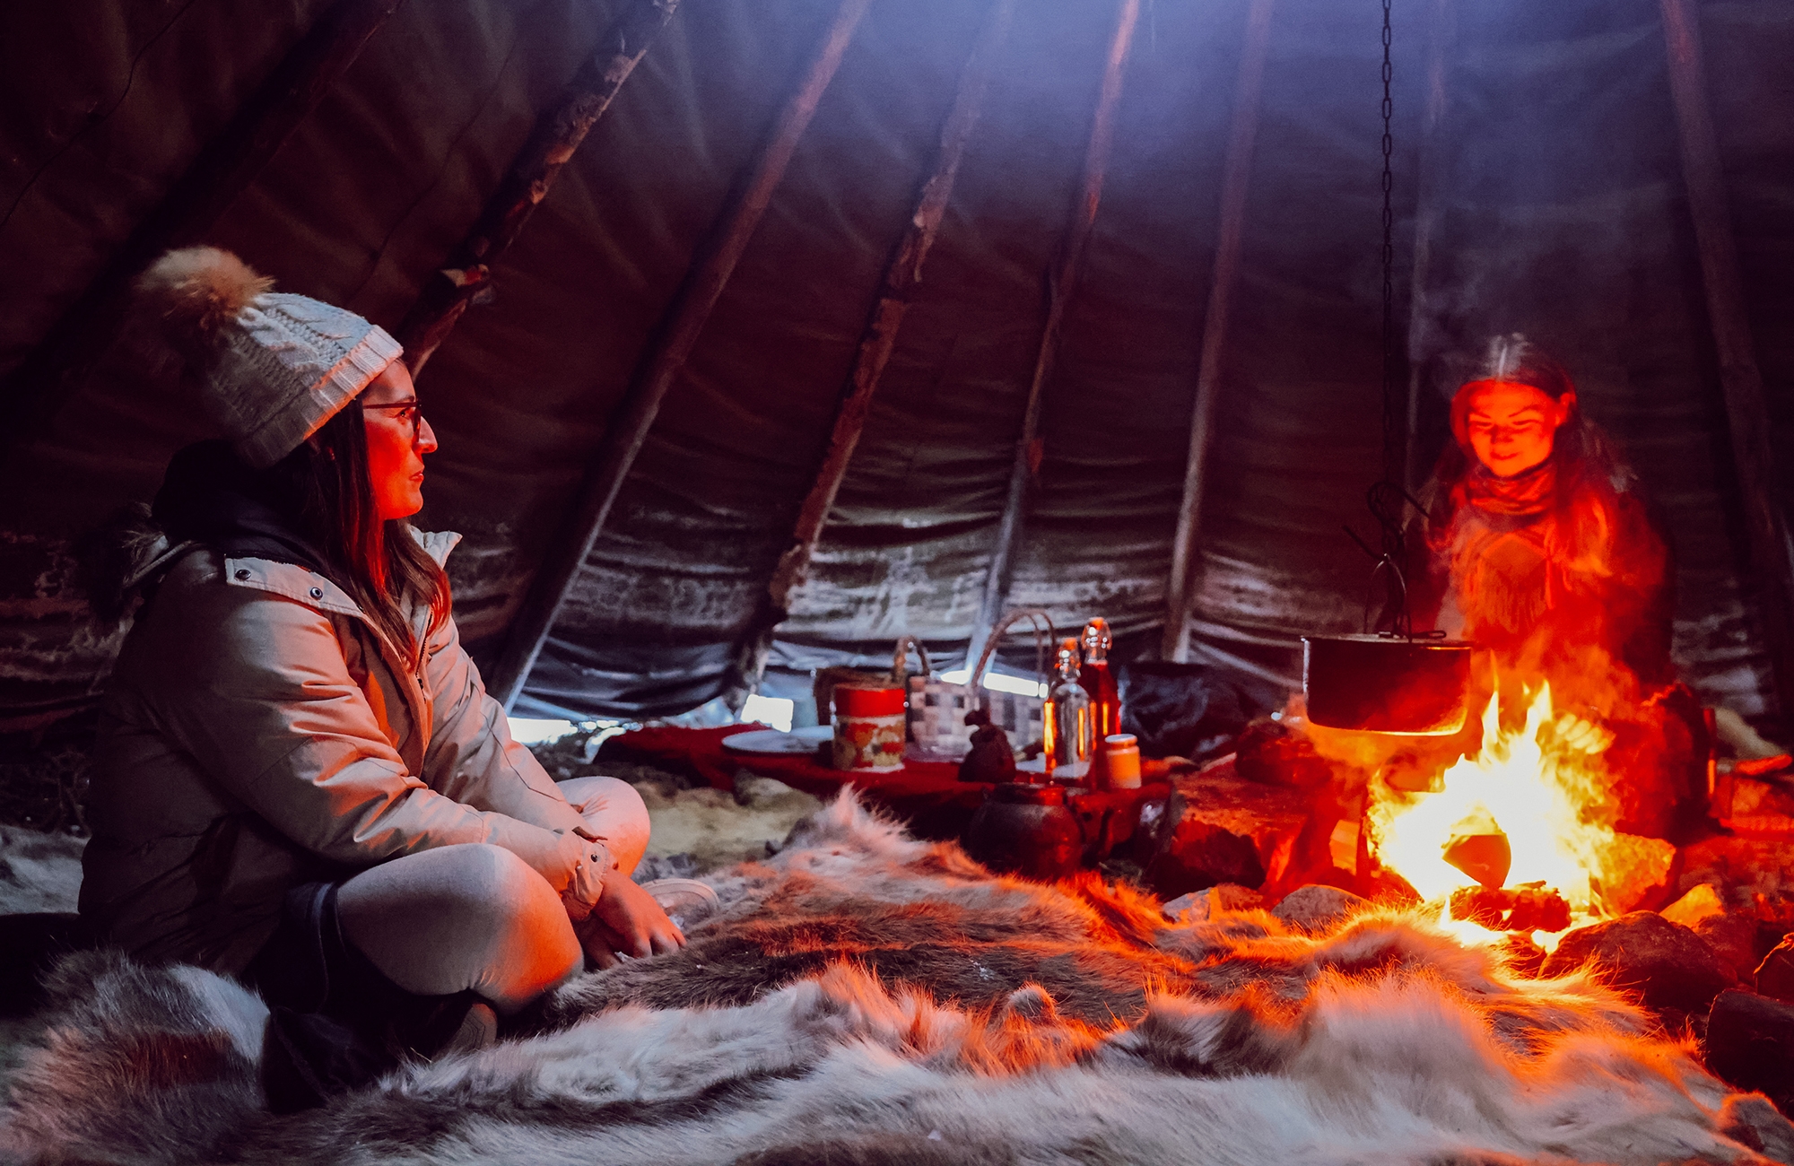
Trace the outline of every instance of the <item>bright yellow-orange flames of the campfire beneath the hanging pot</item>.
{"type": "MultiPolygon", "coordinates": [[[[1613,831],[1589,822],[1586,809],[1600,804],[1600,779],[1589,755],[1559,744],[1550,685],[1539,689],[1518,734],[1500,728],[1496,700],[1482,716],[1482,752],[1444,771],[1437,793],[1405,793],[1374,784],[1371,829],[1378,861],[1399,874],[1428,902],[1441,902],[1441,924],[1460,938],[1493,942],[1496,933],[1450,917],[1451,892],[1475,886],[1460,866],[1462,840],[1487,836],[1489,825],[1507,836],[1512,863],[1505,886],[1543,883],[1570,902],[1572,926],[1609,915],[1600,901],[1602,856],[1613,831]],[[1459,866],[1446,861],[1457,850],[1459,866]]],[[[1471,870],[1484,877],[1482,870],[1471,870]]],[[[1487,879],[1485,879],[1487,881],[1487,879]]],[[[1555,936],[1536,935],[1545,947],[1555,936]]]]}

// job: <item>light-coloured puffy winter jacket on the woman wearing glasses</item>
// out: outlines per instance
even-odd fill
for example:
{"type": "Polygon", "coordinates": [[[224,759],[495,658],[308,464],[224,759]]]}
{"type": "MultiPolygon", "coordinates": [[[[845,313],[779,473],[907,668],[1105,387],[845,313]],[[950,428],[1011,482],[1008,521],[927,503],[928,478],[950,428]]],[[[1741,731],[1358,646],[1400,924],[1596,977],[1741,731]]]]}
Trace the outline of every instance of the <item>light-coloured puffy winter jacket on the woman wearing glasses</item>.
{"type": "MultiPolygon", "coordinates": [[[[420,540],[441,563],[459,535],[420,540]]],[[[194,547],[111,678],[81,913],[142,956],[237,972],[298,883],[481,841],[562,890],[556,831],[579,823],[452,619],[413,673],[321,574],[194,547]]]]}

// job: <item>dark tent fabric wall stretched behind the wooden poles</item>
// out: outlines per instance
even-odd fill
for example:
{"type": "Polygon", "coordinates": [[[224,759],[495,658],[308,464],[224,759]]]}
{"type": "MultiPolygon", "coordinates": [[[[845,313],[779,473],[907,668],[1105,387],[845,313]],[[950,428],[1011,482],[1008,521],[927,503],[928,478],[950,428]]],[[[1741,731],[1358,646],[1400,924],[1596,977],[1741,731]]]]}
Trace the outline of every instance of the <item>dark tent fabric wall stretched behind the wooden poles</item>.
{"type": "MultiPolygon", "coordinates": [[[[18,368],[199,147],[327,5],[79,0],[0,13],[0,375],[18,368]]],[[[425,529],[481,660],[818,36],[825,0],[684,0],[420,379],[441,438],[425,529]]],[[[497,187],[621,9],[407,0],[208,240],[388,326],[497,187]]],[[[766,691],[888,657],[951,666],[972,633],[1035,350],[1044,276],[1091,129],[1116,4],[1017,7],[929,255],[766,691]]],[[[1710,100],[1772,445],[1794,448],[1794,13],[1701,5],[1710,100]]],[[[1057,370],[1010,603],[1107,615],[1157,651],[1182,497],[1245,0],[1148,0],[1057,370]]],[[[836,404],[985,4],[874,0],[675,382],[517,710],[653,716],[723,692],[791,538],[836,404]]],[[[1740,484],[1690,222],[1661,13],[1649,0],[1398,0],[1396,310],[1446,439],[1453,353],[1523,330],[1627,447],[1677,563],[1676,662],[1710,703],[1774,716],[1740,484]],[[1426,27],[1453,16],[1426,151],[1433,262],[1414,269],[1426,27]]],[[[1193,578],[1193,658],[1293,685],[1295,637],[1354,630],[1381,466],[1380,11],[1277,0],[1220,352],[1193,578]]],[[[0,725],[90,705],[72,547],[208,436],[126,332],[0,465],[0,725]]],[[[1785,465],[1781,466],[1787,468],[1785,465]]],[[[1789,481],[1776,479],[1778,504],[1789,481]]],[[[1006,657],[1032,667],[1026,637],[1006,657]]]]}

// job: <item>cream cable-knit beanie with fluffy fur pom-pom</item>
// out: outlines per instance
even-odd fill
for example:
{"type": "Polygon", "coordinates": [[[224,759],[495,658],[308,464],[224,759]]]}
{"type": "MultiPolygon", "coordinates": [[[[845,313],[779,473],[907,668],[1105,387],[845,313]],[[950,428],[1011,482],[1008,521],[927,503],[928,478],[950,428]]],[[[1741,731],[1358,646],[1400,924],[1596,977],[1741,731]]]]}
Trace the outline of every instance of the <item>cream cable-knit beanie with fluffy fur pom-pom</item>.
{"type": "Polygon", "coordinates": [[[274,285],[217,248],[169,251],[136,280],[206,411],[253,466],[271,466],[404,352],[384,328],[274,285]]]}

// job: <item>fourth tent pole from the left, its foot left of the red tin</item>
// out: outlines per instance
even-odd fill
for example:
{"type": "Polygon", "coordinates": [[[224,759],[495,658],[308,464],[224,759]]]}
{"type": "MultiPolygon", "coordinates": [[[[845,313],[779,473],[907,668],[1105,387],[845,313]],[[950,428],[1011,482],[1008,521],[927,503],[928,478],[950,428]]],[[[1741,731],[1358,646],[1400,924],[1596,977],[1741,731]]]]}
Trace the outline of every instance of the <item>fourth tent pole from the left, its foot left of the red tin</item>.
{"type": "Polygon", "coordinates": [[[804,581],[809,560],[816,553],[822,527],[829,518],[829,508],[847,479],[847,466],[859,445],[859,434],[867,427],[867,414],[872,411],[872,396],[879,391],[884,377],[884,364],[897,346],[897,330],[910,310],[910,300],[922,287],[922,264],[929,248],[940,233],[940,222],[947,213],[947,201],[953,197],[953,183],[960,174],[960,161],[965,145],[978,126],[980,106],[990,84],[990,74],[997,50],[1008,36],[1010,20],[1015,13],[1015,0],[992,0],[985,27],[972,45],[965,66],[960,70],[960,84],[953,95],[953,108],[940,127],[940,147],[935,151],[935,165],[922,183],[910,212],[910,226],[902,240],[884,265],[884,280],[877,303],[872,307],[870,321],[859,337],[859,350],[854,353],[854,366],[847,375],[847,391],[834,414],[834,429],[829,434],[829,447],[823,454],[816,479],[811,483],[804,504],[798,508],[797,524],[791,529],[791,545],[779,556],[766,594],[753,613],[753,622],[737,642],[734,653],[734,692],[753,692],[759,689],[766,671],[766,657],[771,651],[773,630],[789,615],[791,592],[804,581]]]}

